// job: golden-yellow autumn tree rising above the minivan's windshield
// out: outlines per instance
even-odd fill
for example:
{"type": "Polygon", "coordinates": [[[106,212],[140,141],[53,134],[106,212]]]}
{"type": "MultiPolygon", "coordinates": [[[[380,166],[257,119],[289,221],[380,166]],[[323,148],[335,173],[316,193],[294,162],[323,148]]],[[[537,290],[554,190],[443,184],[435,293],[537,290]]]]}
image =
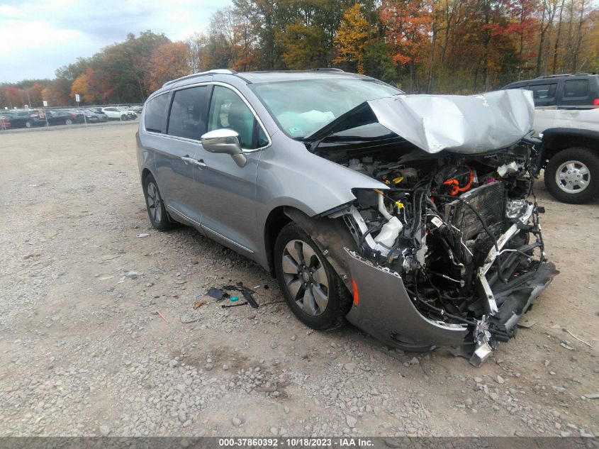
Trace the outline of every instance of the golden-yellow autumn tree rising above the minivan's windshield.
{"type": "Polygon", "coordinates": [[[345,10],[334,38],[337,57],[333,62],[349,62],[358,73],[364,73],[364,48],[368,43],[369,24],[359,3],[345,10]]]}

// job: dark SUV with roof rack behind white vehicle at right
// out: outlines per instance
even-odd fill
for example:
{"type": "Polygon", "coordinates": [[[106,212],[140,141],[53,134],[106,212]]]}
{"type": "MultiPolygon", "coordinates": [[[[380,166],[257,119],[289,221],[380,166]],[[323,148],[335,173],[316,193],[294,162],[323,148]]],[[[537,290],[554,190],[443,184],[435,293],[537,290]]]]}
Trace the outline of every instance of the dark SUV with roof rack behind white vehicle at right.
{"type": "Polygon", "coordinates": [[[534,106],[559,108],[599,106],[599,74],[556,74],[508,84],[503,89],[532,91],[534,106]]]}

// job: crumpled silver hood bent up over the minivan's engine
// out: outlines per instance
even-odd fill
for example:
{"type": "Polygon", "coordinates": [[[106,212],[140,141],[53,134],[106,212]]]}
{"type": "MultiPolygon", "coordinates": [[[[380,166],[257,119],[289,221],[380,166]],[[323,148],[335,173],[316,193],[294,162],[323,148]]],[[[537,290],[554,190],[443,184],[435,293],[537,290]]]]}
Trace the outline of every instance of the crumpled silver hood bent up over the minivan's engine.
{"type": "MultiPolygon", "coordinates": [[[[517,143],[530,133],[533,120],[532,92],[510,89],[472,96],[396,95],[370,100],[325,128],[330,135],[378,121],[427,153],[472,154],[517,143]]],[[[313,136],[323,138],[325,128],[313,136]]]]}

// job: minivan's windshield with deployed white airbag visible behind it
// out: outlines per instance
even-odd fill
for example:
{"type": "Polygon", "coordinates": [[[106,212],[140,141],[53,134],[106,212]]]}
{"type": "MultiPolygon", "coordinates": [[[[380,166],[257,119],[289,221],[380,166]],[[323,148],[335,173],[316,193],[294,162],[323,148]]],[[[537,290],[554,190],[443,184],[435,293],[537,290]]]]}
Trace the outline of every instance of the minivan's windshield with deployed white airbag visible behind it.
{"type": "Polygon", "coordinates": [[[403,94],[374,79],[301,79],[250,85],[279,127],[292,138],[318,131],[367,100],[403,94]]]}

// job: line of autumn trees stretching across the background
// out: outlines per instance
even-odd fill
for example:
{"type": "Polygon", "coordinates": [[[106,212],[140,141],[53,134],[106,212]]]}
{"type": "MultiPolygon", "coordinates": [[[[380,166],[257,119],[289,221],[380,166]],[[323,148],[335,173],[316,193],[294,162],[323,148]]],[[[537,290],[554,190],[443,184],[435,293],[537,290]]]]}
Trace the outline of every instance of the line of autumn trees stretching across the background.
{"type": "Polygon", "coordinates": [[[0,106],[136,103],[203,70],[339,67],[405,92],[469,94],[544,74],[599,71],[596,0],[233,0],[172,42],[129,34],[60,67],[0,85],[0,106]]]}

